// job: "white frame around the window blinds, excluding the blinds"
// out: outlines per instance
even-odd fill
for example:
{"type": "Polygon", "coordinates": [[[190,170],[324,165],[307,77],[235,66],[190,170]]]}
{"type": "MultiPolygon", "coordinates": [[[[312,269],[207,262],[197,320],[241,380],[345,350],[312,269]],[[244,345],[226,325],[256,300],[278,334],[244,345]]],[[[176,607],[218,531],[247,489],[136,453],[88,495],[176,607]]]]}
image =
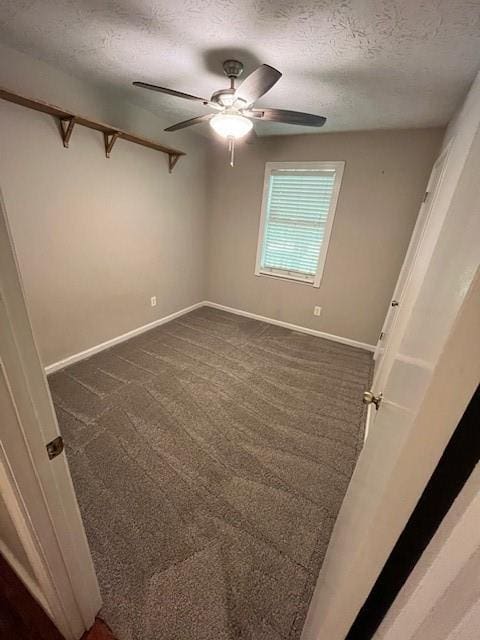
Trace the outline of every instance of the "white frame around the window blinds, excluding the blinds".
{"type": "Polygon", "coordinates": [[[297,282],[300,284],[307,284],[313,287],[319,287],[323,277],[323,271],[325,268],[325,262],[327,260],[327,252],[330,244],[330,236],[333,229],[333,222],[335,219],[335,212],[337,209],[338,196],[342,185],[343,171],[345,168],[344,161],[335,162],[267,162],[265,163],[265,176],[263,180],[263,193],[262,193],[262,209],[260,215],[260,223],[258,229],[258,242],[257,242],[257,257],[255,261],[255,275],[266,276],[268,278],[278,278],[281,280],[287,280],[288,282],[297,282]],[[262,269],[262,249],[265,238],[265,228],[267,222],[267,205],[268,194],[270,189],[270,176],[272,171],[276,169],[294,169],[294,170],[317,170],[317,171],[335,171],[335,183],[332,190],[332,198],[330,200],[330,207],[327,214],[327,223],[325,225],[325,233],[322,243],[322,248],[318,256],[317,270],[314,277],[306,276],[302,277],[301,274],[295,272],[287,272],[285,270],[262,269]]]}

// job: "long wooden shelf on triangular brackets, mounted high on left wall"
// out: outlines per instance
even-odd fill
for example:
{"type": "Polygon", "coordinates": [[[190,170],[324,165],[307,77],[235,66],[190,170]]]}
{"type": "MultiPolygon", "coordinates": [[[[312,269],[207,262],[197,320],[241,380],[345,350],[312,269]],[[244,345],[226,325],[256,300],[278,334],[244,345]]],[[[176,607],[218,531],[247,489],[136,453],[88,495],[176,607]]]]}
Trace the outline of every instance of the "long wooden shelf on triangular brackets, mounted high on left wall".
{"type": "Polygon", "coordinates": [[[42,102],[41,100],[33,100],[32,98],[26,98],[25,96],[21,96],[18,93],[13,93],[12,91],[8,91],[7,89],[0,88],[0,98],[2,100],[7,100],[8,102],[19,104],[22,107],[27,107],[28,109],[34,109],[35,111],[48,113],[49,115],[56,118],[59,123],[63,146],[66,148],[68,148],[73,129],[75,125],[78,124],[82,127],[88,127],[89,129],[95,129],[96,131],[100,131],[101,133],[103,133],[105,155],[107,158],[110,157],[113,145],[119,138],[121,140],[133,142],[134,144],[139,144],[142,147],[148,147],[149,149],[154,149],[155,151],[165,153],[168,156],[169,173],[172,173],[172,170],[177,164],[178,159],[181,156],[186,155],[184,151],[178,151],[177,149],[172,149],[171,147],[165,147],[164,145],[159,144],[154,140],[141,138],[140,136],[136,136],[133,133],[122,131],[117,127],[112,127],[109,124],[104,124],[103,122],[97,122],[96,120],[91,120],[90,118],[84,118],[83,116],[75,115],[70,111],[66,111],[65,109],[61,109],[60,107],[56,107],[52,104],[48,104],[47,102],[42,102]]]}

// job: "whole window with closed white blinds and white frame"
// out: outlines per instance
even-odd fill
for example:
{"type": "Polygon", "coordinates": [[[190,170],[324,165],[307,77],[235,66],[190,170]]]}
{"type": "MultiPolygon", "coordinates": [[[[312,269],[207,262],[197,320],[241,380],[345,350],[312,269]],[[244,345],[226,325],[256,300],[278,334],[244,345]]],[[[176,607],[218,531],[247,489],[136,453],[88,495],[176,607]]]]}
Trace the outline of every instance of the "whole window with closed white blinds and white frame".
{"type": "Polygon", "coordinates": [[[256,275],[320,286],[344,162],[267,162],[256,275]]]}

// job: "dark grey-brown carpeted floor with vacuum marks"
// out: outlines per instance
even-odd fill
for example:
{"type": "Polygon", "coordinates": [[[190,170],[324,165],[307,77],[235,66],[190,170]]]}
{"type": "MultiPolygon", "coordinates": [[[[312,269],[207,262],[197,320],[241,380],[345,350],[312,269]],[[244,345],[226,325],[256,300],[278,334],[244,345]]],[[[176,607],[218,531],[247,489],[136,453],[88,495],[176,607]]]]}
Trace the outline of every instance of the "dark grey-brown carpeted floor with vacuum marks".
{"type": "Polygon", "coordinates": [[[202,308],[49,378],[119,640],[297,640],[371,354],[202,308]]]}

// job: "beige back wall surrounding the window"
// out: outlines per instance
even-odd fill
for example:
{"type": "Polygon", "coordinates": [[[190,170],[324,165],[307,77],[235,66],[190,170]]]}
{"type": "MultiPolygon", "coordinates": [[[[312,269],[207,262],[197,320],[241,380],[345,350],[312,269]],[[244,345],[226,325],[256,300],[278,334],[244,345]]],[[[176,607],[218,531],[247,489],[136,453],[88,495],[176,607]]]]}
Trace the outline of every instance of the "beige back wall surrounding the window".
{"type": "Polygon", "coordinates": [[[439,151],[440,129],[263,138],[209,160],[209,300],[375,344],[439,151]],[[255,276],[265,163],[344,160],[320,288],[255,276]],[[320,318],[314,305],[322,307],[320,318]]]}

